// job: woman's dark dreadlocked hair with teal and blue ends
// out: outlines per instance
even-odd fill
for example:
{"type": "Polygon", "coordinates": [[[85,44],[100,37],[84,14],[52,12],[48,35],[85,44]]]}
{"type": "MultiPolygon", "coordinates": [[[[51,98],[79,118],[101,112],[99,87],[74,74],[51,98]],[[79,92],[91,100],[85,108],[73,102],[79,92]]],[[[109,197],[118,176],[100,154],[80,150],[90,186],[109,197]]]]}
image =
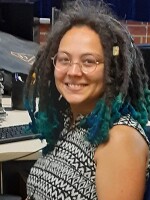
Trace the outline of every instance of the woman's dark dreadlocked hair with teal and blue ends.
{"type": "Polygon", "coordinates": [[[105,58],[104,95],[81,122],[81,126],[88,130],[87,139],[96,145],[107,141],[109,129],[122,115],[130,114],[143,128],[149,119],[150,91],[144,59],[127,28],[103,1],[77,0],[60,11],[26,83],[25,104],[32,118],[32,127],[43,133],[48,148],[57,141],[63,128],[62,113],[69,108],[65,99],[59,100],[51,58],[57,53],[64,34],[74,26],[88,26],[99,35],[105,58]],[[113,53],[116,47],[117,55],[113,53]]]}

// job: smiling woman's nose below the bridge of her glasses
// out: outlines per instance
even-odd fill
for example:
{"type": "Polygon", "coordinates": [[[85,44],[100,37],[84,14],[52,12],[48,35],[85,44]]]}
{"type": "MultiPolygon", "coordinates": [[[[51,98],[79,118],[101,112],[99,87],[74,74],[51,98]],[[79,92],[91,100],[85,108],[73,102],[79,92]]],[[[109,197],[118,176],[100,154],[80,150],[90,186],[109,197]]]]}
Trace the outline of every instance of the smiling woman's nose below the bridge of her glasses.
{"type": "Polygon", "coordinates": [[[81,76],[82,70],[80,63],[72,63],[71,66],[68,68],[68,75],[74,75],[74,76],[81,76]]]}

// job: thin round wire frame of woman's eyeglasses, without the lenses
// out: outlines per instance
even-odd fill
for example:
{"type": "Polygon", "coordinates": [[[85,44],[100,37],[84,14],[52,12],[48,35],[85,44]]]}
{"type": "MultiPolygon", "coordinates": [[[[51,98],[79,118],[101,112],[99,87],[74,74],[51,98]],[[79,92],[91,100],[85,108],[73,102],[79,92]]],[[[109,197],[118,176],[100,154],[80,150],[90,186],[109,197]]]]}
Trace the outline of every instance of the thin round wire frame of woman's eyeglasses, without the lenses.
{"type": "MultiPolygon", "coordinates": [[[[66,53],[66,52],[57,52],[53,57],[51,57],[51,60],[53,61],[53,65],[54,65],[54,67],[55,67],[55,69],[56,70],[58,70],[58,71],[61,71],[61,72],[63,72],[63,71],[67,71],[68,69],[69,69],[69,67],[71,67],[73,64],[78,64],[79,65],[79,67],[80,67],[80,70],[82,71],[82,73],[84,73],[84,74],[88,74],[88,73],[92,73],[92,72],[94,72],[95,70],[96,70],[96,68],[97,68],[97,65],[100,65],[100,64],[104,64],[104,61],[98,61],[96,58],[95,58],[95,56],[93,55],[93,54],[85,54],[85,55],[83,55],[83,56],[88,56],[88,55],[90,55],[90,56],[93,56],[93,58],[94,58],[94,60],[95,60],[95,68],[94,68],[94,70],[92,70],[92,71],[89,71],[89,72],[85,72],[84,70],[83,70],[83,63],[80,63],[80,62],[75,62],[75,63],[73,63],[72,62],[72,60],[71,60],[71,55],[70,54],[68,54],[68,53],[66,53]],[[57,58],[57,55],[59,54],[59,53],[62,53],[62,54],[65,54],[66,56],[68,56],[68,58],[69,58],[69,62],[70,63],[68,63],[68,65],[69,66],[67,66],[66,67],[66,69],[65,70],[61,70],[61,69],[58,69],[57,68],[57,66],[56,66],[56,62],[55,62],[55,58],[57,58]]],[[[82,56],[82,57],[83,57],[82,56]]]]}

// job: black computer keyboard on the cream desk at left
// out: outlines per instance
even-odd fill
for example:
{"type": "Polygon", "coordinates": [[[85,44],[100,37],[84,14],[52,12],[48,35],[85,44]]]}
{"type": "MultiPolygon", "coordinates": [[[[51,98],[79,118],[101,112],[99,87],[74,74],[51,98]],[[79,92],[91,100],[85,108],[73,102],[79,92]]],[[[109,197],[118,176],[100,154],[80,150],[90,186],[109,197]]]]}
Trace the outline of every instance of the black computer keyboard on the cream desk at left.
{"type": "Polygon", "coordinates": [[[40,133],[27,131],[28,124],[0,127],[0,144],[41,138],[40,133]]]}

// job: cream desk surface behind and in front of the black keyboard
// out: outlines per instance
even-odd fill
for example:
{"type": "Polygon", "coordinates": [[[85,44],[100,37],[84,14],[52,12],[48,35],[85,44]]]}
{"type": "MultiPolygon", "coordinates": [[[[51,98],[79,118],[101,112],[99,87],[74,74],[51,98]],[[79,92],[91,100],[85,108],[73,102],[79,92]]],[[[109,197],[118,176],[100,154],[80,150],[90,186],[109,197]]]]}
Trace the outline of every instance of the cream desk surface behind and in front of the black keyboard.
{"type": "MultiPolygon", "coordinates": [[[[0,127],[28,124],[31,121],[27,111],[11,110],[11,98],[3,98],[2,105],[6,108],[7,116],[0,124],[0,127]]],[[[35,160],[41,156],[41,149],[45,146],[46,141],[41,141],[40,139],[1,144],[0,161],[17,159],[20,157],[22,157],[22,160],[35,160]]]]}

